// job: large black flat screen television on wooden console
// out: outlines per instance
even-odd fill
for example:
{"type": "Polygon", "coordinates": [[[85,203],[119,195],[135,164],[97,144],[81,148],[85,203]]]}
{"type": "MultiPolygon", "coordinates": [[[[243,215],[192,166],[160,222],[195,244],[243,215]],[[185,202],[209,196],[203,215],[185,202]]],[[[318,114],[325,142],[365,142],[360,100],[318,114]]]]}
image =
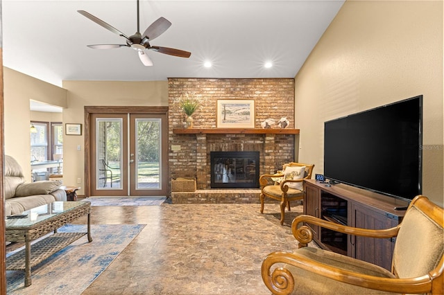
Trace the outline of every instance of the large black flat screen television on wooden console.
{"type": "Polygon", "coordinates": [[[422,96],[329,120],[326,179],[409,202],[422,193],[422,96]]]}

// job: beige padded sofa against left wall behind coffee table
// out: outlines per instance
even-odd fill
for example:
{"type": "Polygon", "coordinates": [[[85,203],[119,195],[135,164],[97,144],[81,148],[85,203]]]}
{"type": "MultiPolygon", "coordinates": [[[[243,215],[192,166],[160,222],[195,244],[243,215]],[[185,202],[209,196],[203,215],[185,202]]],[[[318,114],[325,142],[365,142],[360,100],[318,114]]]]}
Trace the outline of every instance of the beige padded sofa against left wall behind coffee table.
{"type": "Polygon", "coordinates": [[[5,214],[21,214],[31,208],[66,201],[60,181],[35,181],[25,183],[22,167],[10,156],[5,157],[5,214]]]}

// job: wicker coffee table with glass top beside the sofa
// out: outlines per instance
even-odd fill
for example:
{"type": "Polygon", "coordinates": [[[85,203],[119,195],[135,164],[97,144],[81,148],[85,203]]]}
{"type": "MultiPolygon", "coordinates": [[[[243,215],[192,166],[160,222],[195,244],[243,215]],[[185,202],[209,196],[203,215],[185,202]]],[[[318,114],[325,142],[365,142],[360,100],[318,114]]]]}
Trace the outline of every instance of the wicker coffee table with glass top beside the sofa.
{"type": "Polygon", "coordinates": [[[6,258],[6,270],[24,270],[25,287],[31,285],[31,267],[87,235],[92,242],[90,202],[53,202],[6,218],[6,241],[24,242],[25,248],[6,258]],[[88,215],[87,233],[58,233],[57,229],[78,217],[88,215]],[[53,231],[53,235],[31,245],[33,240],[53,231]]]}

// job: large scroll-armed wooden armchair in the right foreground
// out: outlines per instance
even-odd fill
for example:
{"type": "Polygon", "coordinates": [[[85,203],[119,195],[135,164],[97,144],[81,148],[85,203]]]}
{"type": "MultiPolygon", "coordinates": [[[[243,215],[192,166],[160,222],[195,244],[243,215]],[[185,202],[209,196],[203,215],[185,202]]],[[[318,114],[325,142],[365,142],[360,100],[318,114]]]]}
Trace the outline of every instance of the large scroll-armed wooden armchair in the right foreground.
{"type": "Polygon", "coordinates": [[[398,226],[385,230],[357,229],[301,215],[291,225],[300,249],[266,256],[262,279],[273,294],[444,294],[443,220],[443,208],[424,196],[412,200],[398,226]],[[396,237],[391,271],[306,247],[313,235],[308,226],[298,228],[301,222],[350,235],[396,237]]]}

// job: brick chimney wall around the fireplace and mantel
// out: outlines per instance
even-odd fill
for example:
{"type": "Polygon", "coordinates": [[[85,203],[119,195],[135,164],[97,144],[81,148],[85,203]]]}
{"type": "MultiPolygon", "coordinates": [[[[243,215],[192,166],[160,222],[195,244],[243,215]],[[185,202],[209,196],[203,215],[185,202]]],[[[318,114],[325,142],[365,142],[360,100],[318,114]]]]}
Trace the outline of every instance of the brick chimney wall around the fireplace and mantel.
{"type": "MultiPolygon", "coordinates": [[[[273,118],[287,117],[294,128],[294,80],[169,78],[169,175],[197,178],[198,189],[210,188],[210,151],[258,150],[260,174],[282,169],[294,159],[294,135],[289,134],[173,134],[184,127],[179,107],[185,93],[194,93],[200,108],[193,114],[194,128],[216,128],[218,99],[255,100],[255,128],[273,118]],[[180,145],[172,151],[171,145],[180,145]]],[[[278,128],[277,125],[273,126],[278,128]]]]}

